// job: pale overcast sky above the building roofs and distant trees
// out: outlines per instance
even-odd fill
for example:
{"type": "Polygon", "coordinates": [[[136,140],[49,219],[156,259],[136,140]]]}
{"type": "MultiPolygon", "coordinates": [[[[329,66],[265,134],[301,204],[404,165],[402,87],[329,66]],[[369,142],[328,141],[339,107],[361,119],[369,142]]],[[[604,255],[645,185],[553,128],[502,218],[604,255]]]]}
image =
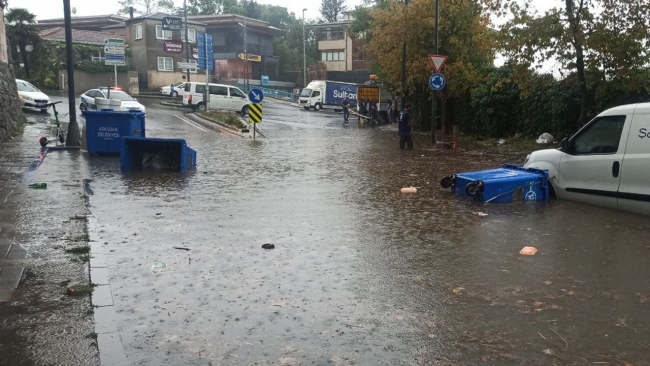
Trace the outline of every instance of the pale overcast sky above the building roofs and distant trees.
{"type": "MultiPolygon", "coordinates": [[[[177,6],[183,5],[183,0],[174,0],[177,6]]],[[[305,18],[320,17],[321,0],[257,0],[259,4],[283,6],[302,17],[302,9],[307,8],[305,18]]],[[[361,0],[346,0],[345,5],[353,9],[360,5],[361,0]]],[[[115,14],[119,10],[118,0],[70,0],[70,6],[77,8],[77,16],[115,14]]],[[[9,0],[9,8],[27,8],[36,14],[37,19],[63,18],[63,0],[9,0]]]]}

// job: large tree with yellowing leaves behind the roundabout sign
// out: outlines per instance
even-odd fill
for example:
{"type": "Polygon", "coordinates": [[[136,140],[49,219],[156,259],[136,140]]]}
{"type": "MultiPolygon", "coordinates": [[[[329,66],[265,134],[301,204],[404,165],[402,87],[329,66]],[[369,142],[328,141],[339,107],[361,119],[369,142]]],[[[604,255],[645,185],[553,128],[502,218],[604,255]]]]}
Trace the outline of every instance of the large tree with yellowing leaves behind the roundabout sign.
{"type": "MultiPolygon", "coordinates": [[[[433,52],[435,0],[414,0],[406,6],[390,1],[371,11],[372,38],[366,51],[372,55],[382,83],[412,99],[414,114],[426,116],[430,100],[428,80],[433,72],[428,55],[433,52]],[[406,43],[406,86],[402,88],[402,47],[406,43]]],[[[440,7],[439,53],[449,59],[444,67],[447,86],[439,93],[442,99],[443,126],[447,118],[447,101],[466,94],[482,81],[481,69],[494,60],[494,36],[489,29],[489,15],[478,0],[445,0],[440,7]]],[[[425,126],[421,126],[425,127],[425,126]]]]}

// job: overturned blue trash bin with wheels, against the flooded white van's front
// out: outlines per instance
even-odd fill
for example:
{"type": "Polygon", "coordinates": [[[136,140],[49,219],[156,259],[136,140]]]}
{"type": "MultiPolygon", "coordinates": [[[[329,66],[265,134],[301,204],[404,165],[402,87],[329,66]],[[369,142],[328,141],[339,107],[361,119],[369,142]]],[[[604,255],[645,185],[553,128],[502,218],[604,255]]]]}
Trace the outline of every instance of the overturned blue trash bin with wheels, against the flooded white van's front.
{"type": "Polygon", "coordinates": [[[501,169],[458,173],[440,184],[462,197],[485,203],[546,201],[549,199],[548,172],[506,164],[501,169]]]}

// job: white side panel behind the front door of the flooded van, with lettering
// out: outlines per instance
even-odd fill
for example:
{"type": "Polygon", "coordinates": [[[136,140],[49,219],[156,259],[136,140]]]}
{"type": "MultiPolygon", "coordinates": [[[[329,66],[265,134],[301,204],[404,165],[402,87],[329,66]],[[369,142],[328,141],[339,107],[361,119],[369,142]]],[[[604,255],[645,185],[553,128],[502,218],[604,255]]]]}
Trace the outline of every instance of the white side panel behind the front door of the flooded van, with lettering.
{"type": "Polygon", "coordinates": [[[650,107],[637,107],[627,140],[618,206],[650,215],[650,107]]]}

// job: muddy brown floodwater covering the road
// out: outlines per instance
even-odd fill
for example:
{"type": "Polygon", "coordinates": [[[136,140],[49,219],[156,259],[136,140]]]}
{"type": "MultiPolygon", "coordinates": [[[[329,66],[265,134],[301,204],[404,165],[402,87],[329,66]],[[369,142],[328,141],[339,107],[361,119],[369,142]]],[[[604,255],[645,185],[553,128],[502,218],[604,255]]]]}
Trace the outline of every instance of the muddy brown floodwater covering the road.
{"type": "Polygon", "coordinates": [[[136,364],[648,364],[646,218],[439,187],[522,156],[400,151],[355,128],[267,135],[176,131],[199,156],[182,176],[93,159],[91,238],[136,364]]]}

